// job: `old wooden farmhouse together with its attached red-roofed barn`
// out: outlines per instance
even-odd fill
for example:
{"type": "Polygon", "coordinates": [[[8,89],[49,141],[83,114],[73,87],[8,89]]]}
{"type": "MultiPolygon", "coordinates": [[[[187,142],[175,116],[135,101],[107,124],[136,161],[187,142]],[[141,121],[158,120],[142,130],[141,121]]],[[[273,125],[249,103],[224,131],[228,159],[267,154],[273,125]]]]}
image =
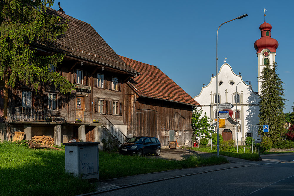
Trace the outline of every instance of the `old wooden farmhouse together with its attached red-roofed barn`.
{"type": "Polygon", "coordinates": [[[57,145],[103,138],[122,143],[134,135],[156,136],[163,146],[171,139],[179,145],[191,140],[192,110],[200,105],[183,89],[157,67],[118,56],[90,24],[62,10],[48,12],[68,19],[69,27],[55,42],[31,47],[40,55],[65,54],[57,68],[48,68],[76,89],[62,94],[41,83],[35,93],[0,81],[1,141],[17,132],[25,140],[51,137],[57,145]]]}

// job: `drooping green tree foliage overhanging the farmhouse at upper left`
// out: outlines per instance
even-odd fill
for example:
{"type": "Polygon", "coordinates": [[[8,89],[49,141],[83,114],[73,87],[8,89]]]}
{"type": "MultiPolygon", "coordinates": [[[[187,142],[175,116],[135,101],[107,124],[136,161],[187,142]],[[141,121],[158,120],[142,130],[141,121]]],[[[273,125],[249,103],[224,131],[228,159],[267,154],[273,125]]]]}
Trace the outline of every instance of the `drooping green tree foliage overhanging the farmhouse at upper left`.
{"type": "Polygon", "coordinates": [[[39,56],[36,42],[54,41],[64,34],[67,21],[46,14],[54,0],[0,0],[0,80],[15,87],[16,81],[37,90],[39,83],[53,82],[60,92],[71,92],[74,85],[58,72],[50,71],[61,63],[64,54],[39,56]]]}

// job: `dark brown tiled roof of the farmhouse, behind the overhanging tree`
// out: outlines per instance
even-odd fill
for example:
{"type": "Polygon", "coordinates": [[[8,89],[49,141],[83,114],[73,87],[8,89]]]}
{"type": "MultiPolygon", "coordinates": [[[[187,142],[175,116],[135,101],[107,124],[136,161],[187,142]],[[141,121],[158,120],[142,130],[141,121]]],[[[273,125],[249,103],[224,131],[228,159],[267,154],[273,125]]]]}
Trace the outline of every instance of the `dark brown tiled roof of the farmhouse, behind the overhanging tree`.
{"type": "MultiPolygon", "coordinates": [[[[123,71],[137,73],[137,71],[127,66],[121,58],[118,57],[90,24],[54,9],[48,8],[47,12],[53,16],[69,19],[69,22],[68,29],[64,35],[59,36],[54,42],[42,44],[43,47],[64,53],[68,56],[74,56],[91,62],[106,64],[106,66],[123,71]]],[[[38,43],[38,45],[40,45],[40,43],[38,43]]]]}

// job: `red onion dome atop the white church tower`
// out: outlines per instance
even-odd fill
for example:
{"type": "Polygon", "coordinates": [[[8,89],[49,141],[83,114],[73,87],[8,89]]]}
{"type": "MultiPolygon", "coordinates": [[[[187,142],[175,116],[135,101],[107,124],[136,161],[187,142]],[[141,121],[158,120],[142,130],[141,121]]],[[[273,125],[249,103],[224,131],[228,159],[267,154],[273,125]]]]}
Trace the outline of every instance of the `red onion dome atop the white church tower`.
{"type": "Polygon", "coordinates": [[[261,38],[256,40],[254,43],[256,53],[261,53],[261,51],[265,48],[269,49],[270,52],[276,52],[279,43],[270,36],[270,30],[272,29],[272,26],[264,21],[264,23],[260,25],[259,29],[261,32],[261,38]]]}

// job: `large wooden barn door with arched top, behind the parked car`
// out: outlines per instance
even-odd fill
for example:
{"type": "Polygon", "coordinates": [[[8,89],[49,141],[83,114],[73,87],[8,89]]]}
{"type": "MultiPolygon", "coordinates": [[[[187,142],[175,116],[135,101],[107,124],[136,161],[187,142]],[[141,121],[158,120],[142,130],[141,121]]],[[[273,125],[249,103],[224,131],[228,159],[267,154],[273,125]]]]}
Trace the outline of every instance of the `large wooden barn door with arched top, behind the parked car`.
{"type": "Polygon", "coordinates": [[[135,135],[157,136],[157,111],[149,109],[136,110],[137,133],[135,135]]]}

